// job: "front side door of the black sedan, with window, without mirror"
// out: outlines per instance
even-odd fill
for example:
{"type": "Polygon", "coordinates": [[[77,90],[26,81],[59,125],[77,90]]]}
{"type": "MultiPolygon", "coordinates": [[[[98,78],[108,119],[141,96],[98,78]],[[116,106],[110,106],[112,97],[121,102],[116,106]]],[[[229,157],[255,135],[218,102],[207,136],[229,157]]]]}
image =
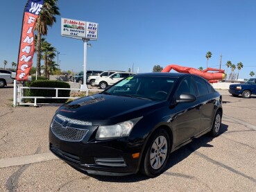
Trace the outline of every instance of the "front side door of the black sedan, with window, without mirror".
{"type": "MultiPolygon", "coordinates": [[[[175,98],[179,98],[180,94],[196,96],[196,90],[191,77],[187,77],[180,82],[175,98]]],[[[176,134],[175,145],[179,146],[200,132],[200,101],[178,103],[171,110],[176,114],[172,117],[173,122],[171,126],[176,134]]]]}

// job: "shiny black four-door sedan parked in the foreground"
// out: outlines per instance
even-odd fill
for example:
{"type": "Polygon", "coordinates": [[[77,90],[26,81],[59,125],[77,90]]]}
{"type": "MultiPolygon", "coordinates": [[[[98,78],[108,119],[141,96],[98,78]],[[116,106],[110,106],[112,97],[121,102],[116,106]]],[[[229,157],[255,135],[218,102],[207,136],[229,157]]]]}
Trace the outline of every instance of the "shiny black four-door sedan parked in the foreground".
{"type": "Polygon", "coordinates": [[[129,76],[101,94],[62,105],[49,130],[50,150],[97,175],[165,171],[170,152],[219,134],[222,96],[203,78],[183,73],[129,76]]]}

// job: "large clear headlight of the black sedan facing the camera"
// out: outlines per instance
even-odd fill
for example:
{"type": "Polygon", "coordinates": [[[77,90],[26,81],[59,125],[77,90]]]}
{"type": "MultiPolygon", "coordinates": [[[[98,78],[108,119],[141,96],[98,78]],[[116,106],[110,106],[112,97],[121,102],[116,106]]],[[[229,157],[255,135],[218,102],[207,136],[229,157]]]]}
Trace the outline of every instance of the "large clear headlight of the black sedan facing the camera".
{"type": "Polygon", "coordinates": [[[131,119],[129,121],[117,123],[115,125],[99,126],[96,133],[96,139],[112,138],[112,137],[127,137],[129,136],[130,131],[133,129],[134,125],[140,119],[142,119],[142,116],[136,119],[131,119]]]}

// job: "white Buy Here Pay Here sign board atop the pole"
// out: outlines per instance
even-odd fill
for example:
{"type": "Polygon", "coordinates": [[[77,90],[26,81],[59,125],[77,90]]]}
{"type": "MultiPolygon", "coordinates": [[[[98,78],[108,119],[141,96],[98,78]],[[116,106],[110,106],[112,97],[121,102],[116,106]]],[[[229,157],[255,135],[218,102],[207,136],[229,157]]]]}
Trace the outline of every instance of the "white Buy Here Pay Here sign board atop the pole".
{"type": "Polygon", "coordinates": [[[92,22],[61,18],[61,35],[78,40],[97,40],[98,26],[92,22]]]}

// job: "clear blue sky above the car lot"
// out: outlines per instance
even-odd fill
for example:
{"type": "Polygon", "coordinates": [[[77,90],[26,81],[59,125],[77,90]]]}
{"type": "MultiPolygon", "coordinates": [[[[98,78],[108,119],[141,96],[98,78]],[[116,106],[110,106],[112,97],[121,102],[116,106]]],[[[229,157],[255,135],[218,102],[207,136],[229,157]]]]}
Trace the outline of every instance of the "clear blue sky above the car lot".
{"type": "MultiPolygon", "coordinates": [[[[0,67],[3,60],[7,67],[17,62],[25,4],[8,0],[0,7],[0,67]]],[[[46,40],[60,51],[63,71],[83,70],[83,42],[60,35],[61,17],[99,23],[99,39],[87,49],[87,70],[133,67],[144,73],[155,64],[205,69],[211,51],[209,67],[219,68],[222,54],[222,69],[230,60],[244,64],[239,78],[256,72],[255,0],[59,0],[58,6],[61,15],[46,40]]]]}

